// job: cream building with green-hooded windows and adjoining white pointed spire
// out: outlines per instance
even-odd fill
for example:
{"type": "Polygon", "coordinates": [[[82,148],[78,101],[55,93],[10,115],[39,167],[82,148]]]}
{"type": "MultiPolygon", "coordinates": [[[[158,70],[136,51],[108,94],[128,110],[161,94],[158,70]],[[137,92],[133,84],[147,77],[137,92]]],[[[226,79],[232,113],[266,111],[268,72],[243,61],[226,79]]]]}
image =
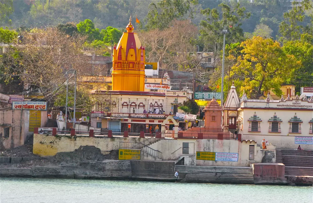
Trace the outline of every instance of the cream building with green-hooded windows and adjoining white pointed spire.
{"type": "Polygon", "coordinates": [[[313,149],[313,97],[307,99],[296,95],[273,100],[268,95],[264,100],[257,100],[248,99],[244,94],[238,103],[234,88],[230,91],[224,106],[223,123],[227,126],[225,117],[234,117],[238,112],[234,121],[243,140],[261,143],[265,139],[279,149],[296,149],[299,145],[302,149],[313,149]],[[238,111],[234,111],[236,106],[238,111]]]}

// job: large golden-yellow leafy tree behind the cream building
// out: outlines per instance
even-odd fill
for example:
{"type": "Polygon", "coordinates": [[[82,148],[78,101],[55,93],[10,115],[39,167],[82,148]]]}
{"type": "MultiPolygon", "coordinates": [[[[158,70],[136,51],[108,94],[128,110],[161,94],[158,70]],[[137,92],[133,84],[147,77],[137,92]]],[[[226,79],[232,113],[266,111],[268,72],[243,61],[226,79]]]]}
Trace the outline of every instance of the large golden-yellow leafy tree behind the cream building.
{"type": "Polygon", "coordinates": [[[241,56],[236,58],[230,75],[243,81],[242,89],[252,98],[272,90],[281,95],[281,85],[290,82],[301,62],[280,47],[279,42],[253,37],[241,43],[241,56]]]}

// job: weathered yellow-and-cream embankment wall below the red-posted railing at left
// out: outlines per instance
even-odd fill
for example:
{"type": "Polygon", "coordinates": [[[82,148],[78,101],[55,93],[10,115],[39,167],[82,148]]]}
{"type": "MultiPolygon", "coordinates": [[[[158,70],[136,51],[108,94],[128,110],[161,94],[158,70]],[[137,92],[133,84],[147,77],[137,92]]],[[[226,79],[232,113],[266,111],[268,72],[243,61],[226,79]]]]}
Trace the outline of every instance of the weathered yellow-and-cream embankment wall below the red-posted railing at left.
{"type": "Polygon", "coordinates": [[[80,146],[95,146],[101,151],[118,150],[120,142],[142,142],[145,138],[121,137],[70,137],[34,134],[33,153],[42,157],[54,156],[58,152],[74,151],[80,146]]]}

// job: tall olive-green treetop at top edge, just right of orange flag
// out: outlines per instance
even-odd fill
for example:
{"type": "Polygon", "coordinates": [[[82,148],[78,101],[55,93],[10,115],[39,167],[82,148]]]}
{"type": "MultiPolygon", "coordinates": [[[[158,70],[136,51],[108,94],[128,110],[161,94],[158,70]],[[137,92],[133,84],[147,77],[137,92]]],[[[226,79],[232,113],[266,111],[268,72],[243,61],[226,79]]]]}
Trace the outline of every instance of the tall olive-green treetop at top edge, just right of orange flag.
{"type": "MultiPolygon", "coordinates": [[[[169,26],[173,20],[181,20],[190,11],[191,4],[198,1],[191,0],[163,0],[149,5],[149,12],[145,18],[146,30],[163,30],[169,26]]],[[[192,12],[190,13],[192,18],[192,12]]]]}

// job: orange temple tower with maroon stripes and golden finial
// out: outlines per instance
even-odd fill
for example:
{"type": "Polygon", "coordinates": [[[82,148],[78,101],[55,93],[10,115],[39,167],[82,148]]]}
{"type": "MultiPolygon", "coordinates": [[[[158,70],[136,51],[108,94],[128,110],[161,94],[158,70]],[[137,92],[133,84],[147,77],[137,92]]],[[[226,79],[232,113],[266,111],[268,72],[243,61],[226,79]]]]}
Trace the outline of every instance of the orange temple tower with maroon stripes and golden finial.
{"type": "Polygon", "coordinates": [[[113,47],[112,90],[145,91],[145,47],[133,32],[131,17],[126,30],[113,47]]]}

